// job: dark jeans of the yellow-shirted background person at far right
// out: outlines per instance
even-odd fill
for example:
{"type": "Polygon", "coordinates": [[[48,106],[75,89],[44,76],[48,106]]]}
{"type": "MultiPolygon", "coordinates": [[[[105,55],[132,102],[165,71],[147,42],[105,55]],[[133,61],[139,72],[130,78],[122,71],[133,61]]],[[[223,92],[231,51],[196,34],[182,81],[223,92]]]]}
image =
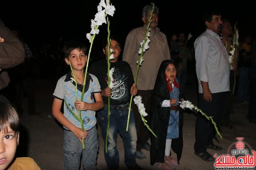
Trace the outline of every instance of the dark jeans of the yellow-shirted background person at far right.
{"type": "Polygon", "coordinates": [[[248,88],[250,84],[249,71],[250,71],[250,68],[247,68],[247,67],[240,68],[237,97],[238,97],[238,100],[242,102],[246,100],[246,96],[248,94],[248,88]]]}

